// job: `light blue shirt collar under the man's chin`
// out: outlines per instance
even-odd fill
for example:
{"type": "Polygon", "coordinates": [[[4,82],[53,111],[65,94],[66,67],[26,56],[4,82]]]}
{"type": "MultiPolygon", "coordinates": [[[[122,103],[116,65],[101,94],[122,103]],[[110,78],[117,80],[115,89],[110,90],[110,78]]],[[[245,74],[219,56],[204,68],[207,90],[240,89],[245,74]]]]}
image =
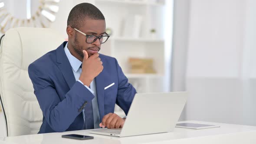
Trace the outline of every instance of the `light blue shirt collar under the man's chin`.
{"type": "Polygon", "coordinates": [[[64,51],[69,59],[69,63],[72,66],[72,69],[77,72],[78,69],[80,68],[80,65],[82,64],[82,62],[77,59],[75,56],[73,56],[68,49],[68,43],[66,44],[66,46],[64,47],[64,51]]]}

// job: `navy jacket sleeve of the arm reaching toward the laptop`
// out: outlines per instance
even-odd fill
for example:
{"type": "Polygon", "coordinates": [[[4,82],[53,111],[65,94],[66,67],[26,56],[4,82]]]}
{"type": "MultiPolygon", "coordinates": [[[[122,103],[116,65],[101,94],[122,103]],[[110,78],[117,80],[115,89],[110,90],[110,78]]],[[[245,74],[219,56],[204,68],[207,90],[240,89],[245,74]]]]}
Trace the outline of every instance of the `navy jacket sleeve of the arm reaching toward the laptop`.
{"type": "Polygon", "coordinates": [[[116,104],[125,111],[125,115],[128,114],[128,111],[131,106],[131,102],[137,93],[135,88],[128,83],[128,79],[123,73],[121,67],[118,65],[117,60],[115,59],[117,74],[118,74],[118,93],[116,104]]]}

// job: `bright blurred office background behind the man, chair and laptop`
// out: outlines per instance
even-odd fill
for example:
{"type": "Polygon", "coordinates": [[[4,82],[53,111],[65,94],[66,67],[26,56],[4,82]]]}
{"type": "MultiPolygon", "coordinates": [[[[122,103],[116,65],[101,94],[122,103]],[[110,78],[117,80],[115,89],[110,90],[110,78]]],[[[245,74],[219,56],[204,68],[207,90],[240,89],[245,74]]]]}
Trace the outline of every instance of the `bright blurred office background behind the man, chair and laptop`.
{"type": "Polygon", "coordinates": [[[0,0],[1,35],[49,27],[67,40],[68,14],[82,2],[104,14],[111,37],[100,53],[138,92],[188,91],[180,120],[256,125],[255,0],[0,0]]]}

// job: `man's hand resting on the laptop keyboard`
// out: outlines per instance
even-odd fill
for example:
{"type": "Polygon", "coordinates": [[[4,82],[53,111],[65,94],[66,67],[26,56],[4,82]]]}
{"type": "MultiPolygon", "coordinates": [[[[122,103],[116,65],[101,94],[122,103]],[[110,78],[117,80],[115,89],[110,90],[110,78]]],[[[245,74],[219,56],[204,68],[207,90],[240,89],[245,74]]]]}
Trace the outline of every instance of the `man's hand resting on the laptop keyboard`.
{"type": "Polygon", "coordinates": [[[102,118],[102,122],[99,124],[102,128],[122,128],[125,124],[125,120],[114,113],[108,113],[102,118]]]}

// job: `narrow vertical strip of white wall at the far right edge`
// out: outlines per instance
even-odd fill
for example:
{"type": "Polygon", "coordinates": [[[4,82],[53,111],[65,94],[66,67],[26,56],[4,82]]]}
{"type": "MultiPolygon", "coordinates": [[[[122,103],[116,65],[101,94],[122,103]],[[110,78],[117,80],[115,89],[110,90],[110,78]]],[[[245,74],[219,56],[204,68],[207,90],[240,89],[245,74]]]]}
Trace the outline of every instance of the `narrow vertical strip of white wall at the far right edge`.
{"type": "Polygon", "coordinates": [[[247,0],[243,45],[243,123],[256,125],[256,0],[247,0]]]}

